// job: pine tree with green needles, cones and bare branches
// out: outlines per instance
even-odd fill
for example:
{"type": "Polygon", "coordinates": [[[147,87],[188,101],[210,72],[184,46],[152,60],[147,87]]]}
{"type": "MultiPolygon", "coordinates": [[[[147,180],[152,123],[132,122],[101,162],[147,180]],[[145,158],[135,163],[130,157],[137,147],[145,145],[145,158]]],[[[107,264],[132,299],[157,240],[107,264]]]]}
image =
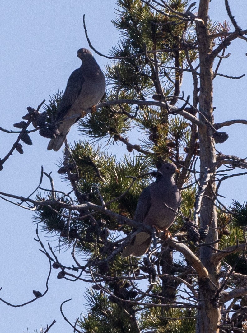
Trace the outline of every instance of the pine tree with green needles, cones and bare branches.
{"type": "MultiPolygon", "coordinates": [[[[246,121],[214,124],[212,99],[227,46],[247,30],[237,25],[227,0],[233,31],[226,21],[212,23],[209,2],[199,1],[197,15],[195,3],[187,0],[117,2],[112,22],[121,39],[110,52],[114,62],[106,70],[105,101],[79,121],[84,140],[64,151],[58,170],[71,193],[55,190],[25,199],[37,207],[35,221],[73,248],[70,267],[44,250],[60,269],[58,278],[86,275],[92,283],[78,332],[213,333],[247,327],[246,203],[225,207],[218,198],[219,185],[230,176],[221,176],[221,167],[247,163],[215,150],[215,143],[228,138],[220,128],[246,121]],[[192,97],[181,89],[184,72],[191,75],[192,97]],[[126,147],[120,161],[111,154],[113,144],[126,147]],[[133,220],[139,195],[165,161],[181,169],[176,181],[182,205],[170,227],[173,237],[164,240],[150,228],[147,255],[121,258],[133,228],[143,228],[133,220]],[[84,255],[83,263],[77,254],[84,255]]],[[[28,119],[46,126],[46,135],[53,133],[61,96],[51,98],[43,118],[34,112],[28,119]]]]}

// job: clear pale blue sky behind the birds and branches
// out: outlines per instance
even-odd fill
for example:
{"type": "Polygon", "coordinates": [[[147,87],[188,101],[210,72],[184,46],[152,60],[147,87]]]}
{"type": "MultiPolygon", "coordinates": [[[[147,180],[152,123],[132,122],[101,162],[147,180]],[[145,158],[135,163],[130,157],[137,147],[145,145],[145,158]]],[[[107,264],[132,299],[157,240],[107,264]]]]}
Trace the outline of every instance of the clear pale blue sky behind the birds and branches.
{"type": "MultiPolygon", "coordinates": [[[[198,3],[198,1],[197,1],[198,3]]],[[[246,27],[246,0],[230,1],[237,22],[246,27]]],[[[212,0],[211,17],[213,21],[223,21],[226,11],[223,0],[212,0]]],[[[111,19],[115,17],[115,0],[8,0],[0,3],[0,126],[12,129],[13,124],[21,121],[28,106],[36,108],[43,99],[66,86],[71,72],[80,66],[76,51],[87,47],[83,31],[83,14],[86,14],[88,34],[92,44],[107,54],[118,41],[118,33],[111,19]]],[[[231,57],[222,61],[219,72],[230,76],[239,76],[247,72],[247,43],[237,40],[227,49],[231,57]]],[[[95,55],[102,68],[107,59],[95,55]]],[[[229,80],[217,77],[214,81],[215,122],[230,119],[246,119],[247,78],[229,80]]],[[[185,77],[183,90],[192,95],[190,78],[185,77]]],[[[223,128],[230,138],[217,149],[225,154],[247,156],[246,126],[234,125],[223,128]]],[[[76,126],[69,133],[69,142],[80,139],[76,126]]],[[[57,175],[57,162],[62,152],[48,152],[48,140],[38,133],[32,136],[33,145],[23,144],[24,154],[14,152],[0,172],[0,190],[19,195],[29,195],[38,185],[41,166],[46,172],[52,171],[56,189],[66,190],[57,175]]],[[[0,132],[0,158],[11,148],[16,134],[0,132]]],[[[133,142],[135,143],[135,142],[133,142]]],[[[116,153],[116,146],[109,148],[116,153]]],[[[120,157],[126,153],[119,150],[120,157]]],[[[43,186],[49,188],[48,180],[43,186]]],[[[222,185],[221,194],[226,202],[232,198],[243,202],[246,199],[246,178],[230,179],[222,185]],[[243,183],[245,185],[243,186],[243,183]]],[[[48,274],[48,261],[39,251],[39,244],[33,240],[35,225],[31,223],[32,213],[10,203],[0,201],[0,297],[13,304],[20,304],[33,298],[32,290],[45,290],[48,274]]],[[[46,238],[55,247],[56,238],[46,238]]],[[[61,261],[71,264],[71,255],[61,253],[61,261]]],[[[70,326],[63,320],[59,306],[61,302],[72,298],[64,305],[64,312],[72,322],[83,310],[85,285],[82,282],[69,282],[56,278],[58,271],[53,270],[49,282],[49,291],[41,299],[25,307],[12,308],[0,302],[0,332],[23,332],[57,323],[51,332],[71,332],[70,326]]]]}

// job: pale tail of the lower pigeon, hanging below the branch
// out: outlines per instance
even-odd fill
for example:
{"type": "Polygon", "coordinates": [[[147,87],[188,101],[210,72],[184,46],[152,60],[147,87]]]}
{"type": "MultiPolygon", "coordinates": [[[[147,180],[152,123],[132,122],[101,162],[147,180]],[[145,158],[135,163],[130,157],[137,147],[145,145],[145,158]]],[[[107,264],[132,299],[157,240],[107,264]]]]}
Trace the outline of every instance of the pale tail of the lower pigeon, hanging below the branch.
{"type": "Polygon", "coordinates": [[[151,244],[152,237],[147,232],[139,232],[126,246],[121,255],[122,258],[132,255],[133,257],[140,257],[147,253],[151,244]]]}

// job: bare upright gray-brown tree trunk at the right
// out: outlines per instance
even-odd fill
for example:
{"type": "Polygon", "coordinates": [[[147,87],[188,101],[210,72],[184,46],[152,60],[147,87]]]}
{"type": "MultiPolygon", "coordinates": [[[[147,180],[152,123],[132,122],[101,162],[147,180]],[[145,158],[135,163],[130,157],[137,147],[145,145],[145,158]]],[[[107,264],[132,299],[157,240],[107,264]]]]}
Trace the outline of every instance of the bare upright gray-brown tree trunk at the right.
{"type": "MultiPolygon", "coordinates": [[[[199,44],[200,58],[200,95],[199,95],[199,119],[205,123],[204,128],[199,128],[200,141],[200,171],[201,176],[210,170],[215,174],[216,154],[213,140],[212,128],[208,125],[213,124],[213,61],[209,55],[212,52],[213,43],[209,37],[207,29],[209,0],[201,0],[198,10],[198,18],[204,21],[196,23],[196,31],[199,44]]],[[[217,212],[214,206],[214,179],[210,179],[206,187],[200,210],[200,225],[209,225],[210,232],[205,239],[206,242],[213,242],[218,239],[217,234],[217,212]]],[[[213,245],[217,248],[217,243],[213,245]]],[[[207,268],[210,280],[199,281],[200,307],[198,309],[197,333],[216,333],[219,332],[220,306],[217,304],[216,287],[218,285],[214,262],[209,263],[208,258],[214,250],[207,246],[200,248],[200,260],[207,268]]]]}

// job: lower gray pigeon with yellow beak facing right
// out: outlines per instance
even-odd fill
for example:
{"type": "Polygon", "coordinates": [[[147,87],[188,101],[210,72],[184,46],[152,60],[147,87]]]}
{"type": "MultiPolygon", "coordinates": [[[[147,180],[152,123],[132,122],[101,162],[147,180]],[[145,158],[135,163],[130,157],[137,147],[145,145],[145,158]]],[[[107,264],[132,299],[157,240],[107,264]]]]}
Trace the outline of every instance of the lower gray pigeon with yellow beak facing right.
{"type": "MultiPolygon", "coordinates": [[[[164,163],[161,166],[155,182],[142,191],[134,216],[135,221],[154,226],[166,235],[169,234],[167,228],[172,225],[176,212],[167,208],[164,203],[175,211],[181,203],[181,194],[173,178],[175,172],[180,171],[172,163],[164,163]]],[[[143,255],[148,251],[151,239],[149,233],[139,232],[124,249],[122,257],[143,255]]]]}

